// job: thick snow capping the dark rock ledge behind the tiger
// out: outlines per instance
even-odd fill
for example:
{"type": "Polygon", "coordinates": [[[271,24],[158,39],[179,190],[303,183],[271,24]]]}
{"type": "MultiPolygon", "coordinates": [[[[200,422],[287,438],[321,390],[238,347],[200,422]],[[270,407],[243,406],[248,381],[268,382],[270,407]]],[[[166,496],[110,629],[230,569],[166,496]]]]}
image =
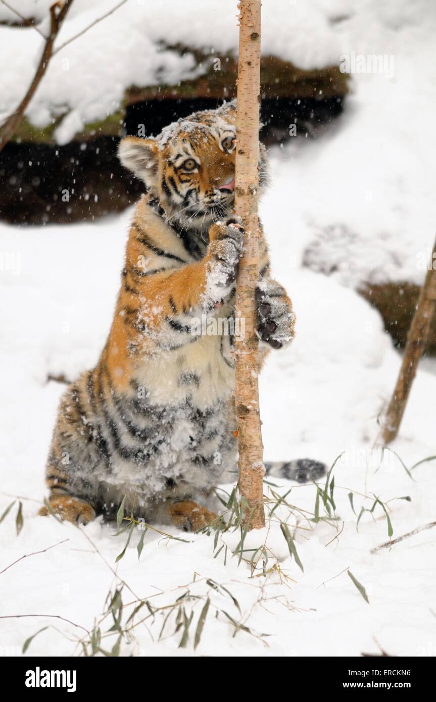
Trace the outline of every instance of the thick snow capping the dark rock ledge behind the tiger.
{"type": "MultiPolygon", "coordinates": [[[[90,7],[86,0],[77,0],[55,48],[116,5],[115,0],[98,0],[90,7]]],[[[41,19],[46,17],[43,7],[27,1],[20,11],[41,19]]],[[[0,18],[10,18],[6,8],[0,12],[0,18]]],[[[236,15],[234,0],[223,0],[219,6],[204,0],[182,4],[162,0],[152,11],[145,1],[128,0],[53,57],[27,117],[35,126],[44,127],[53,117],[69,112],[55,134],[58,143],[67,143],[85,123],[113,114],[129,86],[172,85],[206,71],[206,66],[197,65],[192,53],[182,58],[174,51],[164,51],[161,42],[202,48],[211,57],[237,52],[236,15]]],[[[48,20],[43,20],[39,28],[47,32],[48,20]]],[[[28,27],[0,27],[0,63],[4,67],[0,117],[11,112],[22,98],[42,43],[39,34],[28,27]]],[[[301,68],[337,63],[341,53],[329,23],[314,3],[293,5],[284,0],[270,0],[267,11],[265,8],[263,52],[279,55],[301,68]]]]}

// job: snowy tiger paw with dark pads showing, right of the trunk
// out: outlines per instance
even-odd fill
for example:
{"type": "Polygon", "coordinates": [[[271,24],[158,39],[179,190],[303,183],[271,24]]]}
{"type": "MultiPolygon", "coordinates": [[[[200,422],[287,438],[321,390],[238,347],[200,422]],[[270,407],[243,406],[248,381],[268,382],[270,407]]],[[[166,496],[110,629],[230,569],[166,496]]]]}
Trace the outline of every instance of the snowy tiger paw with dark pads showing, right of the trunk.
{"type": "Polygon", "coordinates": [[[274,349],[293,339],[295,314],[286,291],[275,280],[262,280],[256,288],[259,326],[258,337],[274,349]]]}

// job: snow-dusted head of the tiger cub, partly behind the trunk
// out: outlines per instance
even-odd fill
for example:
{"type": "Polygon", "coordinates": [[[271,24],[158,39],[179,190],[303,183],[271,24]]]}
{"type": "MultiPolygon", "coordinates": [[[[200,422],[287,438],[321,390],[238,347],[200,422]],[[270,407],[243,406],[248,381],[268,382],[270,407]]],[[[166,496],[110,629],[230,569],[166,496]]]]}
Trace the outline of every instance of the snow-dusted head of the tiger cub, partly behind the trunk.
{"type": "MultiPolygon", "coordinates": [[[[154,192],[171,220],[203,232],[234,206],[236,108],[195,112],[165,127],[156,138],[126,137],[121,163],[154,192]]],[[[260,190],[265,184],[265,148],[260,145],[260,190]]]]}

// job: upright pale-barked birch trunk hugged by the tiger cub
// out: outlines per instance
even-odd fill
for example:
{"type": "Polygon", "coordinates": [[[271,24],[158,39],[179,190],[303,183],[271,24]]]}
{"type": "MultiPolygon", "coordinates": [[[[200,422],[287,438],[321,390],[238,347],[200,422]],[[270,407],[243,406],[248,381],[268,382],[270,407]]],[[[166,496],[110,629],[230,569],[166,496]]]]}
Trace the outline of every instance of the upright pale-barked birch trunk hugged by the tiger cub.
{"type": "Polygon", "coordinates": [[[239,2],[237,152],[234,211],[244,222],[244,256],[239,262],[236,315],[244,318],[244,338],[235,338],[235,408],[239,443],[239,494],[244,524],[265,526],[263,444],[258,390],[256,285],[258,251],[258,161],[260,105],[260,0],[239,2]]]}

